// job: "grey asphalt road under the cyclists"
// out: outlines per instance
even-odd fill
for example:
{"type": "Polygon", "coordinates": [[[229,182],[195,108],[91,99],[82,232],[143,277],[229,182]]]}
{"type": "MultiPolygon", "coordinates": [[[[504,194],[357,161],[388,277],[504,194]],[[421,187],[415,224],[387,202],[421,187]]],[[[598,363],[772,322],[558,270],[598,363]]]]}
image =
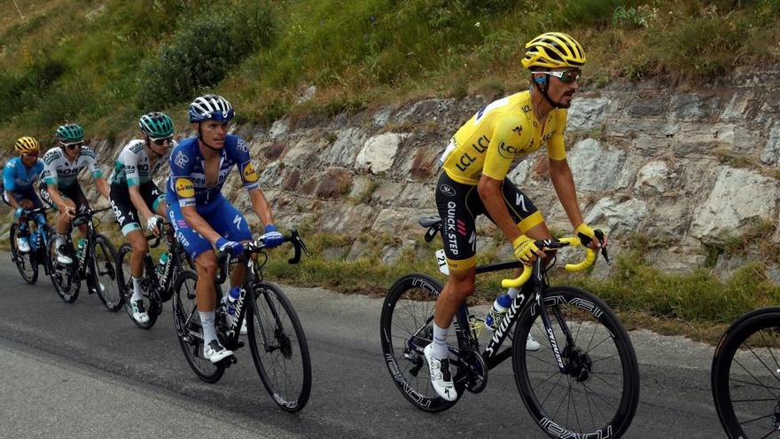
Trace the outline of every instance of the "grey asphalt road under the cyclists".
{"type": "MultiPolygon", "coordinates": [[[[277,409],[238,350],[218,383],[184,360],[167,306],[152,330],[97,296],[62,302],[49,278],[25,284],[0,253],[0,437],[544,437],[527,414],[511,362],[487,389],[439,414],[395,388],[378,341],[381,299],[285,286],[308,337],[314,384],[307,407],[277,409]]],[[[168,304],[167,304],[168,305],[168,304]]],[[[713,348],[631,334],[642,397],[625,437],[723,437],[709,390],[713,348]]]]}

